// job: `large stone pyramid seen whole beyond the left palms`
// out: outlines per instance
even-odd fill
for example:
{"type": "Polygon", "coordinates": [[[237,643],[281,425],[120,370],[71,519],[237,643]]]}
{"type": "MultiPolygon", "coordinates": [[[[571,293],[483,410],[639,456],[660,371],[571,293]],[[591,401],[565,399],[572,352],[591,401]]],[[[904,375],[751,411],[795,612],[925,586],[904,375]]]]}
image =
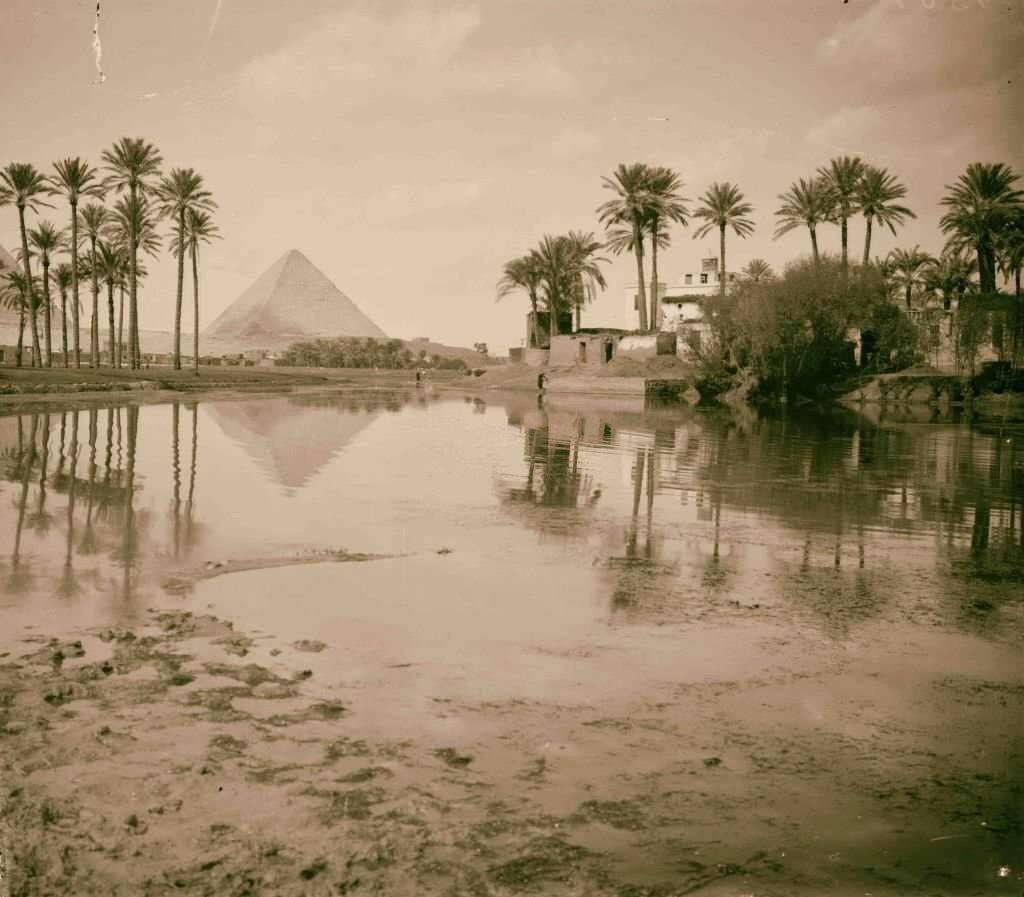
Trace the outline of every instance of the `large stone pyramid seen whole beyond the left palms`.
{"type": "Polygon", "coordinates": [[[283,349],[317,337],[386,339],[384,331],[297,249],[270,265],[203,337],[253,349],[283,349]]]}

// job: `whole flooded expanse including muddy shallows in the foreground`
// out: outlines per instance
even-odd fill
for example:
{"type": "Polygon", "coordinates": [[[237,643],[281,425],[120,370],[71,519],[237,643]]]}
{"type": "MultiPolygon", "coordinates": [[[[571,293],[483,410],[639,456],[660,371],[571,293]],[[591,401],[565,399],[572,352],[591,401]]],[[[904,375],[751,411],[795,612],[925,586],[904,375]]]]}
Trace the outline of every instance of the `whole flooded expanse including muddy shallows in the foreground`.
{"type": "Polygon", "coordinates": [[[0,408],[0,895],[1020,895],[1024,430],[919,418],[0,408]]]}

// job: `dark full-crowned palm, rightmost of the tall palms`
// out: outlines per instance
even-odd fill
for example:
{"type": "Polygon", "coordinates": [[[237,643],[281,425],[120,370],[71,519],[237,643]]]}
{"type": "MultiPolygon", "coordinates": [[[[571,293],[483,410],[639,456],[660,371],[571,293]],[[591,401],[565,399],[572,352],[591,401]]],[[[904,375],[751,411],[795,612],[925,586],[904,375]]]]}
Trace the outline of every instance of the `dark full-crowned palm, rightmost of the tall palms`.
{"type": "Polygon", "coordinates": [[[972,162],[956,183],[946,186],[941,200],[949,211],[939,219],[939,226],[950,234],[950,249],[970,247],[977,255],[982,293],[995,292],[996,234],[1024,202],[1024,193],[1014,186],[1018,179],[1001,162],[972,162]]]}

